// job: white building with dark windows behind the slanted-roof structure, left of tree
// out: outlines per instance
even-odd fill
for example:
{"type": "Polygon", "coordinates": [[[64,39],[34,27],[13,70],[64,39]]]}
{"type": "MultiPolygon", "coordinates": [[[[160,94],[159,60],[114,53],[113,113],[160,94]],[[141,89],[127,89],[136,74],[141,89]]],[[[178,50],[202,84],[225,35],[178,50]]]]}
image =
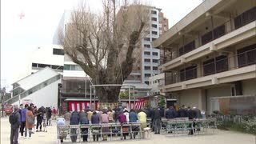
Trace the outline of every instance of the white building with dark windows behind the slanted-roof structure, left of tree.
{"type": "Polygon", "coordinates": [[[49,45],[38,46],[31,52],[30,73],[34,74],[46,66],[55,70],[59,74],[63,72],[64,51],[62,46],[49,45]]]}

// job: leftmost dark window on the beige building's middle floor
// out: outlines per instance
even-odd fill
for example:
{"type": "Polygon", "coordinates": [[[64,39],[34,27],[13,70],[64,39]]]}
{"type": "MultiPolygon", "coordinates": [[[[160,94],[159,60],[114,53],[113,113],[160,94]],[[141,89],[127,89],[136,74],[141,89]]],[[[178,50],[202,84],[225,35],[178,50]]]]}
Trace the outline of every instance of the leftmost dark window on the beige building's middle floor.
{"type": "Polygon", "coordinates": [[[197,66],[189,66],[186,69],[180,70],[180,80],[186,81],[189,79],[197,78],[197,66]]]}

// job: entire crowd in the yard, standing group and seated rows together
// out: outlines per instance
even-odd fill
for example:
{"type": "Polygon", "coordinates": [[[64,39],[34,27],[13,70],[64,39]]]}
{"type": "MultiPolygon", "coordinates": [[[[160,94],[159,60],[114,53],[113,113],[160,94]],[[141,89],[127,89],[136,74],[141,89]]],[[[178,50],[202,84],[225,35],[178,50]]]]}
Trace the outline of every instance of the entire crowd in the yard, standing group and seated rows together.
{"type": "MultiPolygon", "coordinates": [[[[51,119],[56,119],[57,110],[54,107],[44,107],[41,106],[37,108],[33,103],[30,105],[26,104],[25,106],[20,105],[14,107],[14,113],[10,115],[10,124],[11,124],[11,134],[10,142],[18,143],[18,130],[21,133],[21,138],[31,138],[31,135],[34,134],[32,130],[35,128],[36,132],[47,131],[46,126],[51,126],[51,119]],[[52,118],[53,117],[53,118],[52,118]],[[11,120],[14,118],[14,120],[11,120]],[[35,123],[36,119],[36,123],[35,123]],[[43,129],[43,130],[42,130],[43,129]],[[28,134],[27,134],[28,133],[28,134]]],[[[100,123],[113,123],[113,122],[142,122],[142,130],[146,128],[147,119],[151,119],[152,130],[154,134],[160,134],[162,127],[162,117],[167,119],[171,118],[184,118],[187,117],[190,120],[195,118],[202,118],[201,110],[196,107],[190,108],[190,106],[181,106],[178,110],[174,106],[170,106],[169,109],[164,110],[161,107],[148,108],[143,110],[127,110],[126,108],[118,108],[117,106],[114,109],[104,109],[104,110],[90,110],[90,107],[87,107],[85,110],[81,111],[70,111],[64,114],[63,120],[57,121],[57,124],[61,125],[79,125],[79,124],[100,124],[100,123]]],[[[194,124],[193,124],[194,125],[194,124]]],[[[138,131],[138,126],[132,127],[133,131],[138,131]]],[[[77,134],[76,129],[71,129],[71,141],[76,142],[77,134]]],[[[83,142],[87,141],[88,137],[88,128],[82,128],[82,139],[83,142]]],[[[129,134],[129,128],[122,126],[122,139],[126,139],[126,136],[129,134]]],[[[99,129],[94,128],[92,130],[93,140],[98,141],[99,138],[99,129]]],[[[107,140],[109,132],[108,127],[102,129],[103,141],[107,140]]],[[[130,134],[130,138],[136,138],[136,132],[130,134]]],[[[190,130],[190,134],[194,134],[194,130],[190,130]]],[[[63,141],[63,139],[61,139],[63,141]]]]}

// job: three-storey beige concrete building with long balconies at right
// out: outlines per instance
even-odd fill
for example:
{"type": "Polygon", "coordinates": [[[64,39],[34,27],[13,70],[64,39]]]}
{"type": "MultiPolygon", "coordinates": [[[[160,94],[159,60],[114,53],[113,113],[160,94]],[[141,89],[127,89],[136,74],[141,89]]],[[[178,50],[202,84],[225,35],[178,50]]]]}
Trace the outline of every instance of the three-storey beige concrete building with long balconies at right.
{"type": "Polygon", "coordinates": [[[202,2],[154,41],[163,50],[161,91],[176,95],[179,106],[197,106],[207,114],[214,110],[214,97],[255,96],[255,39],[254,0],[202,2]]]}

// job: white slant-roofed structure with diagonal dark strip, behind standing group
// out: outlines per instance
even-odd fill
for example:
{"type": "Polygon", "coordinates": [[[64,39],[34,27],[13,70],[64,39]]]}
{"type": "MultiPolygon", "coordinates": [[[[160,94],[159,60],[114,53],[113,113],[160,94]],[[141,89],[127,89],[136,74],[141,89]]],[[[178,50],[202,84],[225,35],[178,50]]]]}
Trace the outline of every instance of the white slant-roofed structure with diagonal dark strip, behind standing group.
{"type": "Polygon", "coordinates": [[[5,103],[18,105],[22,102],[32,102],[35,106],[58,107],[58,83],[61,82],[61,74],[45,67],[18,82],[14,82],[12,98],[5,103]]]}

